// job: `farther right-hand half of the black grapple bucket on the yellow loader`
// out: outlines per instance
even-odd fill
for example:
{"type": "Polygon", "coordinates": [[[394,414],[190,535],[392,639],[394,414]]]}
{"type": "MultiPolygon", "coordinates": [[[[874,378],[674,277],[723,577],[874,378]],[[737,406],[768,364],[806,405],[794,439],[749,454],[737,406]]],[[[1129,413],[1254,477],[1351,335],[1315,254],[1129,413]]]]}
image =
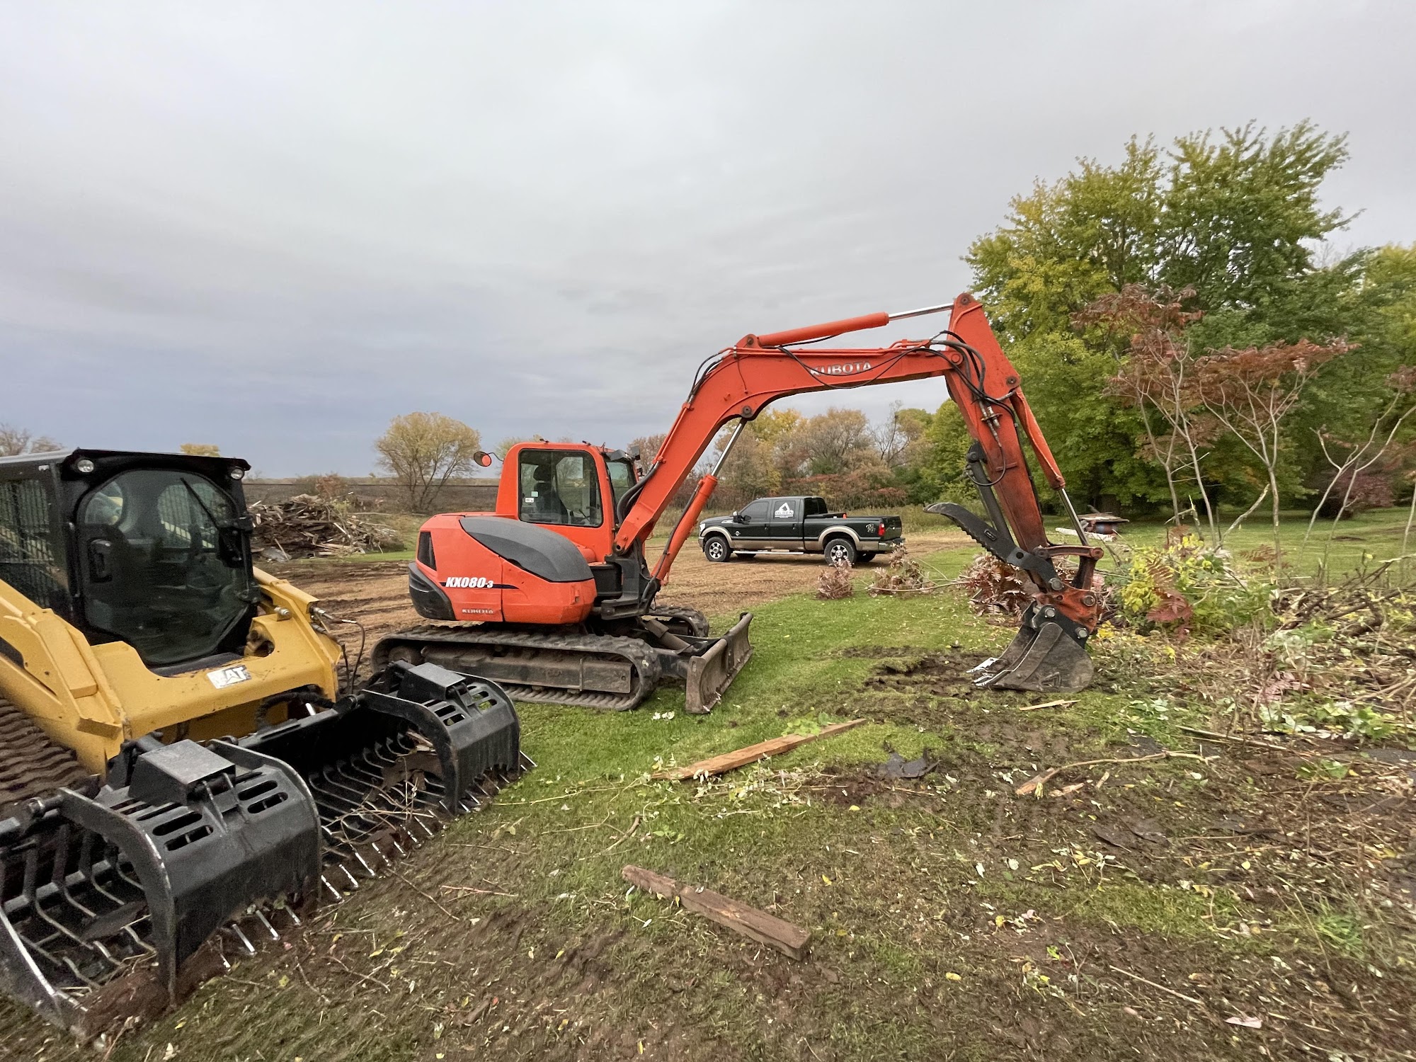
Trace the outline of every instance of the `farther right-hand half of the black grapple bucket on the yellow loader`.
{"type": "Polygon", "coordinates": [[[521,725],[496,683],[438,664],[389,666],[375,687],[331,711],[242,738],[289,763],[319,809],[324,886],[333,895],[374,877],[405,843],[470,811],[532,766],[521,725]]]}

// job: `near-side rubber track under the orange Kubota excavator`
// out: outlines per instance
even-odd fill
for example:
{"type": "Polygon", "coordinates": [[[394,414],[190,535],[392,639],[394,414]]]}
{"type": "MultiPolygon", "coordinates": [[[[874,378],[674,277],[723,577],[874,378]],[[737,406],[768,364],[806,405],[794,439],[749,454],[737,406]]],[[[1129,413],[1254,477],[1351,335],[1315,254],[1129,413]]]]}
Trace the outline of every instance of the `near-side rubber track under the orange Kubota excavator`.
{"type": "Polygon", "coordinates": [[[653,646],[640,639],[479,623],[389,634],[374,647],[374,670],[396,660],[486,675],[518,701],[606,711],[637,708],[664,677],[653,646]]]}

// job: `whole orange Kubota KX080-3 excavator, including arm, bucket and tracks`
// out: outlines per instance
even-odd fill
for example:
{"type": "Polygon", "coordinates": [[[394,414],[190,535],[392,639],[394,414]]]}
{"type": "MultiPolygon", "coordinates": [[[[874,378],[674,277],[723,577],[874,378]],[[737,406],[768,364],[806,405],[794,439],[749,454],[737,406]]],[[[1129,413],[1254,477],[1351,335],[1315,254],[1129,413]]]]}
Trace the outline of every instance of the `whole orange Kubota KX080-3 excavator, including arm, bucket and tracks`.
{"type": "MultiPolygon", "coordinates": [[[[389,661],[435,663],[498,681],[524,701],[633,708],[663,681],[685,684],[687,709],[705,712],[752,654],[750,613],[724,636],[692,609],[656,603],[692,534],[716,473],[742,429],[779,398],[809,391],[944,377],[973,446],[967,472],[986,517],[943,503],[994,556],[1021,569],[1034,600],[1007,651],[978,683],[1005,690],[1075,691],[1090,683],[1086,640],[1097,623],[1092,573],[1102,551],[1086,534],[1028,408],[1018,371],[970,295],[953,304],[874,313],[806,329],[745,336],[705,361],[688,401],[643,477],[636,456],[590,445],[518,443],[503,459],[496,513],[432,517],[418,537],[409,590],[419,615],[450,620],[394,634],[375,649],[389,661]],[[889,321],[950,310],[927,340],[888,347],[809,346],[889,321]],[[644,542],[712,439],[736,421],[712,474],[698,481],[653,569],[644,542]],[[1022,440],[1061,494],[1080,545],[1048,541],[1022,440]],[[1059,558],[1076,571],[1065,579],[1059,558]]],[[[490,456],[483,463],[490,464],[490,456]]]]}

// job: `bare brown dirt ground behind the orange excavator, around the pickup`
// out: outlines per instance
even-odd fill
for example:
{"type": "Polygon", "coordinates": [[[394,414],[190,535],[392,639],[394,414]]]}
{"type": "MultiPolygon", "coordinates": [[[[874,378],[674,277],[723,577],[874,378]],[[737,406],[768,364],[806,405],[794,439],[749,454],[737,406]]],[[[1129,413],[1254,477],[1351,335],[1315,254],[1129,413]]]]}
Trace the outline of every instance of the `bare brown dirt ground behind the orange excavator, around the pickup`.
{"type": "MultiPolygon", "coordinates": [[[[909,535],[908,541],[910,552],[920,556],[964,545],[969,539],[957,531],[927,531],[909,535]]],[[[650,562],[654,556],[657,549],[650,551],[650,562]]],[[[875,564],[884,565],[884,559],[875,564]]],[[[313,593],[334,615],[358,620],[371,639],[422,622],[408,602],[408,564],[404,561],[293,561],[266,565],[266,571],[313,593]]],[[[755,559],[709,564],[690,542],[674,562],[660,600],[725,617],[809,590],[820,573],[821,558],[814,555],[763,554],[755,559]]]]}

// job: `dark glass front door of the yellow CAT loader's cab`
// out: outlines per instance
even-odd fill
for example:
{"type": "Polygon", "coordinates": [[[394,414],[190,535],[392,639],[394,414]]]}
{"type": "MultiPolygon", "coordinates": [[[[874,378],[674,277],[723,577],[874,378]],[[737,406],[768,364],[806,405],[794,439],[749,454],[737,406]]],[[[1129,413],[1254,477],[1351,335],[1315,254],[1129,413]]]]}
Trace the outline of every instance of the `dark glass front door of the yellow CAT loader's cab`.
{"type": "Polygon", "coordinates": [[[132,469],[79,504],[84,607],[152,667],[239,651],[255,599],[245,534],[210,480],[132,469]]]}

